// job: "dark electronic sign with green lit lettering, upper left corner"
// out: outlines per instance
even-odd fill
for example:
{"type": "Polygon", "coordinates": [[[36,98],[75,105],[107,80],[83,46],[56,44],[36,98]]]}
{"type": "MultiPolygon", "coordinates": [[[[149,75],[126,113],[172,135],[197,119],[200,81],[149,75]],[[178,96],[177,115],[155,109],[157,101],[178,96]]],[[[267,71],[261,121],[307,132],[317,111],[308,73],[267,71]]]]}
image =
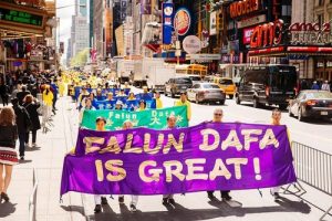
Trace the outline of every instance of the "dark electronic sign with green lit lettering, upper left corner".
{"type": "Polygon", "coordinates": [[[9,21],[19,24],[29,24],[33,27],[43,25],[43,17],[21,10],[6,9],[0,7],[0,21],[9,21]]]}

